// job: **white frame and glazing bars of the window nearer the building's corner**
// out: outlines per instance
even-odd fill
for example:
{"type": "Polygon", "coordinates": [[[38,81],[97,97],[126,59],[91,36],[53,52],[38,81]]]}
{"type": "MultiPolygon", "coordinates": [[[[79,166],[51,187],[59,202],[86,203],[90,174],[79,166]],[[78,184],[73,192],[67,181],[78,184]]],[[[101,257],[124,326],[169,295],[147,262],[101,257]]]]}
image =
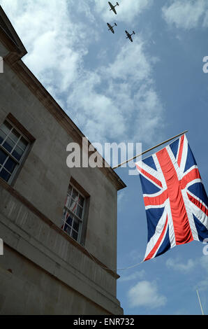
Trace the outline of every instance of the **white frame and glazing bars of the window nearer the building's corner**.
{"type": "MultiPolygon", "coordinates": [[[[68,185],[68,190],[67,190],[67,194],[66,194],[66,201],[65,201],[65,204],[64,204],[64,210],[62,212],[62,217],[61,217],[61,230],[63,230],[66,235],[68,235],[69,237],[71,237],[72,239],[74,239],[75,241],[77,241],[77,243],[81,244],[81,240],[82,240],[82,230],[83,230],[83,224],[84,224],[84,215],[85,215],[85,207],[86,207],[86,196],[83,195],[80,190],[72,183],[70,182],[69,185],[68,185]],[[70,186],[72,187],[72,190],[70,192],[70,195],[68,194],[68,190],[70,188],[70,186]],[[73,200],[73,190],[75,190],[78,194],[78,198],[79,196],[81,196],[84,200],[83,202],[83,207],[82,207],[82,218],[80,218],[79,216],[77,216],[77,214],[75,214],[75,212],[73,212],[72,210],[70,210],[67,206],[66,206],[66,203],[67,203],[67,197],[69,196],[70,199],[68,200],[68,204],[70,204],[70,201],[73,200]],[[66,214],[64,215],[64,212],[66,211],[66,214],[71,214],[73,217],[75,217],[77,219],[77,221],[79,222],[79,231],[78,231],[78,234],[77,234],[77,239],[75,239],[73,236],[72,236],[72,232],[73,232],[73,222],[74,222],[74,219],[73,219],[73,222],[72,222],[72,225],[68,225],[68,223],[66,223],[66,214]],[[64,220],[63,220],[64,218],[64,220]],[[64,230],[65,228],[65,225],[67,225],[69,228],[70,228],[70,234],[68,234],[68,232],[66,230],[64,230]]],[[[74,200],[75,201],[75,200],[74,200]]],[[[79,204],[78,201],[75,201],[76,204],[79,204]]],[[[77,209],[77,207],[76,207],[77,209]]],[[[75,230],[74,230],[75,231],[75,230]]],[[[77,231],[75,231],[77,232],[77,231]]]]}

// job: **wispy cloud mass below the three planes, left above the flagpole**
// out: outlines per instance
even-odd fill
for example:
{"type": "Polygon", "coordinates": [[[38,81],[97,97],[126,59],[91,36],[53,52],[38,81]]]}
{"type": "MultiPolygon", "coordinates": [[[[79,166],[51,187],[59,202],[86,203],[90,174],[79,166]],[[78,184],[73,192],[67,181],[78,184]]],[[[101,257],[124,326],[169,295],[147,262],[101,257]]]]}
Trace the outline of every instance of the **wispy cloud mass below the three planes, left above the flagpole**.
{"type": "Polygon", "coordinates": [[[131,43],[121,45],[110,64],[82,72],[68,95],[68,107],[77,109],[75,120],[92,141],[108,137],[150,143],[163,117],[151,74],[151,58],[137,37],[133,47],[131,43]]]}

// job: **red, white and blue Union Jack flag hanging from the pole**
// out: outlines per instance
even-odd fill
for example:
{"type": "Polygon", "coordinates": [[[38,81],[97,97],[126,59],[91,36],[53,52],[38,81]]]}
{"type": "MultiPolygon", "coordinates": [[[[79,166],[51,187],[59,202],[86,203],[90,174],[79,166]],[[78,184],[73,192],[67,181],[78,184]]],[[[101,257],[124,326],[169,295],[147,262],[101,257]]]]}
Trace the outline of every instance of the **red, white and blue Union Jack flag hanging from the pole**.
{"type": "Polygon", "coordinates": [[[186,136],[137,162],[147,215],[144,261],[208,237],[208,198],[186,136]]]}

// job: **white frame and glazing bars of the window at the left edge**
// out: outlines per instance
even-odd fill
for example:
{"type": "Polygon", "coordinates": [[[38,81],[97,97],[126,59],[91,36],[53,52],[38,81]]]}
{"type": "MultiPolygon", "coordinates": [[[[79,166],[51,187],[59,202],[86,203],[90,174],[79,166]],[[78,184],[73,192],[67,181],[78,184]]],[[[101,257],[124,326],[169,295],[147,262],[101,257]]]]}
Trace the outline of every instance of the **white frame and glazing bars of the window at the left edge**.
{"type": "MultiPolygon", "coordinates": [[[[10,130],[10,132],[8,134],[6,134],[6,138],[3,139],[3,141],[0,144],[0,150],[2,150],[4,153],[6,153],[7,158],[6,160],[3,162],[2,165],[0,165],[0,172],[2,169],[6,170],[6,172],[8,172],[8,170],[4,167],[4,165],[6,164],[6,162],[8,161],[8,158],[12,159],[16,165],[15,165],[15,169],[13,170],[13,172],[10,174],[10,172],[8,172],[8,174],[10,174],[10,178],[8,179],[8,181],[6,181],[5,179],[3,179],[2,177],[0,177],[1,179],[3,179],[3,181],[6,181],[6,183],[8,183],[9,185],[11,185],[11,183],[13,183],[13,180],[15,179],[15,176],[18,172],[18,170],[20,170],[20,168],[22,167],[22,163],[24,162],[25,158],[27,157],[27,153],[29,151],[29,148],[31,147],[31,141],[29,140],[29,138],[15,125],[15,123],[13,123],[12,120],[10,120],[9,118],[5,118],[5,120],[3,120],[3,123],[1,123],[0,125],[0,129],[2,127],[3,124],[8,123],[12,129],[10,130]],[[10,137],[10,133],[13,132],[13,130],[16,130],[19,134],[20,137],[19,139],[15,142],[11,137],[10,137]],[[9,152],[6,148],[3,147],[3,143],[4,141],[6,141],[6,139],[10,138],[13,143],[15,144],[15,146],[13,146],[13,149],[9,152]],[[23,138],[25,141],[27,141],[27,146],[24,149],[22,156],[20,158],[20,160],[17,160],[13,155],[13,151],[15,150],[15,147],[17,146],[17,144],[19,143],[20,139],[23,138]]],[[[3,130],[2,130],[3,131],[3,130]]],[[[19,146],[18,146],[19,147],[19,146]]],[[[21,148],[21,147],[20,147],[21,148]]]]}

